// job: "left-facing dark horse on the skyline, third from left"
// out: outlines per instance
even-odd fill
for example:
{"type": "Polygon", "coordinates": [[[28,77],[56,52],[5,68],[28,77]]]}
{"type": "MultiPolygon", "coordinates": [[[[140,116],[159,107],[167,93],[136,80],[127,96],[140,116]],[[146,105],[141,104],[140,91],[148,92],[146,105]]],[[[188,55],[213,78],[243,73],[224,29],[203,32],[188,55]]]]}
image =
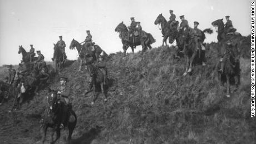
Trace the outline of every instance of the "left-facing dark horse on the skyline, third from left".
{"type": "Polygon", "coordinates": [[[93,57],[96,61],[99,58],[99,55],[102,54],[103,57],[107,57],[107,53],[101,49],[100,46],[92,43],[93,49],[89,46],[81,45],[79,42],[77,42],[75,39],[72,39],[70,43],[70,49],[77,49],[78,56],[79,56],[79,69],[78,71],[81,71],[82,69],[82,63],[85,61],[85,56],[89,54],[91,57],[93,57]]]}

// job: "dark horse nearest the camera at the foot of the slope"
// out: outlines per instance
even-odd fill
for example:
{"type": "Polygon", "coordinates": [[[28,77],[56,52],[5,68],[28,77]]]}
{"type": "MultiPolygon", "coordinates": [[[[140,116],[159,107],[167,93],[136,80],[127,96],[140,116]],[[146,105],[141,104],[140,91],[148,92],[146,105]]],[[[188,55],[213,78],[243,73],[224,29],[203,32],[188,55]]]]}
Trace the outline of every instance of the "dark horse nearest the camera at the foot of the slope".
{"type": "MultiPolygon", "coordinates": [[[[63,103],[58,103],[57,91],[50,90],[50,96],[47,96],[47,105],[46,105],[46,110],[45,110],[45,115],[44,115],[43,125],[42,125],[42,128],[43,128],[42,143],[45,142],[48,127],[52,128],[51,144],[55,143],[58,140],[58,138],[60,138],[62,107],[68,107],[68,106],[66,106],[63,103]],[[55,132],[56,132],[56,138],[55,140],[53,140],[53,135],[55,134],[55,132]]],[[[75,112],[73,110],[70,110],[70,113],[71,115],[69,117],[67,116],[66,123],[63,123],[64,127],[68,127],[67,143],[70,143],[71,136],[77,122],[77,117],[75,112]]],[[[69,114],[65,113],[65,115],[69,115],[69,114]]]]}

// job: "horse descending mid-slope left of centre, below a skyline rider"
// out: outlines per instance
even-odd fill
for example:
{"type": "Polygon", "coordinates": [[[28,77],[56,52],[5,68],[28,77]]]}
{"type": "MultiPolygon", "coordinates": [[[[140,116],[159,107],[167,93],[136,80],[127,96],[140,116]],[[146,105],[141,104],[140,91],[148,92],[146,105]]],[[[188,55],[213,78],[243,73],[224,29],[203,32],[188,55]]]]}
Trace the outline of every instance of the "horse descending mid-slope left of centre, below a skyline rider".
{"type": "Polygon", "coordinates": [[[100,85],[101,87],[101,93],[105,96],[104,101],[107,101],[106,91],[104,90],[104,80],[107,78],[107,71],[104,68],[97,68],[94,66],[93,58],[88,56],[85,58],[86,63],[84,63],[87,66],[88,72],[90,73],[90,76],[92,78],[92,87],[93,87],[93,101],[92,104],[96,101],[96,86],[100,85]]]}

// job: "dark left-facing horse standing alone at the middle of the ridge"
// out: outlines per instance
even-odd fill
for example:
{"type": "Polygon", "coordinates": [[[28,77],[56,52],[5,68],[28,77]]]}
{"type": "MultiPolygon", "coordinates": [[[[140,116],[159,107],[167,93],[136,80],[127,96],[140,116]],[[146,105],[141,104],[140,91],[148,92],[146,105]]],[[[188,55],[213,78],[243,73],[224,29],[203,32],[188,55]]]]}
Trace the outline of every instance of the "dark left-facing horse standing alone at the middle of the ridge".
{"type": "Polygon", "coordinates": [[[118,24],[118,26],[115,28],[115,32],[119,32],[119,37],[122,40],[122,49],[124,49],[124,56],[126,56],[126,50],[131,47],[132,53],[134,53],[134,48],[136,46],[141,45],[142,46],[142,52],[145,52],[147,50],[147,47],[150,49],[152,48],[150,44],[155,42],[154,37],[150,33],[146,33],[142,31],[142,33],[145,33],[146,37],[130,37],[128,36],[128,29],[125,26],[124,22],[121,22],[118,24]],[[127,39],[129,38],[129,41],[127,39]]]}

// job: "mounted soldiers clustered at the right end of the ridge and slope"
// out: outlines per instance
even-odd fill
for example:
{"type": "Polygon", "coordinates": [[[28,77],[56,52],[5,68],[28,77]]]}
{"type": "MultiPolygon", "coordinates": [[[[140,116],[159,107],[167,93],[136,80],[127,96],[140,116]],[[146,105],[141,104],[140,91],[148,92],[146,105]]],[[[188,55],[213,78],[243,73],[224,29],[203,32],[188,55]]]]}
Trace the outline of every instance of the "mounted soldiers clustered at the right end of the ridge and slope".
{"type": "MultiPolygon", "coordinates": [[[[176,21],[176,16],[173,10],[170,10],[170,21],[159,14],[155,20],[155,24],[161,24],[161,32],[163,34],[163,46],[164,43],[167,45],[166,40],[169,37],[169,43],[173,43],[176,40],[178,46],[175,57],[179,57],[178,54],[183,53],[186,57],[186,71],[184,76],[192,71],[192,65],[194,59],[199,57],[201,64],[205,66],[205,46],[204,39],[205,32],[213,33],[210,28],[201,29],[198,28],[199,22],[194,22],[194,28],[190,28],[188,21],[184,18],[184,15],[180,16],[181,23],[176,21]]],[[[240,47],[239,42],[242,38],[241,34],[237,32],[237,29],[233,27],[232,21],[229,19],[230,16],[225,16],[227,22],[223,23],[223,18],[218,19],[211,24],[217,28],[218,32],[218,42],[220,44],[220,49],[224,49],[224,53],[220,53],[220,60],[217,64],[217,71],[219,75],[219,81],[221,85],[227,82],[227,97],[230,97],[230,82],[235,81],[235,85],[238,88],[240,84],[240,47]]],[[[180,58],[180,57],[179,57],[180,58]]]]}

